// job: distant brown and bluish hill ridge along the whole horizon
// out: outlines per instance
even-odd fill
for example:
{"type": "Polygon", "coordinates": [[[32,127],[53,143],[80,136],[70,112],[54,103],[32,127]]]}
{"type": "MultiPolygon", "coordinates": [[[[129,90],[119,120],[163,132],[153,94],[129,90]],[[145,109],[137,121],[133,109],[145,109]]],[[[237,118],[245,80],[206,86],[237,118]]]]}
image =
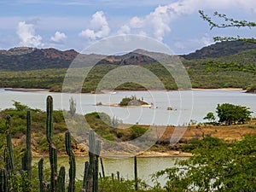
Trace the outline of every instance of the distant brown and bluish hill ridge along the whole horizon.
{"type": "MultiPolygon", "coordinates": [[[[198,60],[235,55],[247,49],[256,49],[256,44],[241,41],[221,42],[196,50],[189,55],[180,56],[186,60],[198,60]]],[[[150,52],[142,49],[137,50],[125,55],[106,56],[100,63],[110,65],[147,65],[155,62],[147,54],[143,55],[143,53],[150,52]]],[[[17,47],[9,50],[0,50],[0,70],[26,71],[47,68],[67,68],[77,55],[79,55],[79,52],[74,49],[62,51],[54,48],[37,49],[17,47]]],[[[90,57],[91,61],[104,57],[103,55],[94,54],[83,56],[90,57]]]]}

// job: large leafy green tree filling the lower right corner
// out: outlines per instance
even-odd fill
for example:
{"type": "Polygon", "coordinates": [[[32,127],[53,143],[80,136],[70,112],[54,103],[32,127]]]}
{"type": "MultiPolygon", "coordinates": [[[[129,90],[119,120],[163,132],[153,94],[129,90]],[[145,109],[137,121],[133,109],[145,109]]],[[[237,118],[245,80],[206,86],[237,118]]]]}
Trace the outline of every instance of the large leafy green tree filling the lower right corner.
{"type": "Polygon", "coordinates": [[[192,157],[157,172],[167,191],[255,191],[256,134],[228,144],[214,137],[199,141],[192,157]]]}

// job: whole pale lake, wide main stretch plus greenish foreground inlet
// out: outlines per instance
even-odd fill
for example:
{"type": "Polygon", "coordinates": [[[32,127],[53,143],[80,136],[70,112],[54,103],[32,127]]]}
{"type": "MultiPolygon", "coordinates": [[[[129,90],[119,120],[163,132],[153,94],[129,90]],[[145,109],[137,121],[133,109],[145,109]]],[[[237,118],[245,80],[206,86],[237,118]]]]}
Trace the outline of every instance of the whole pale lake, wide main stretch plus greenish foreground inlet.
{"type": "MultiPolygon", "coordinates": [[[[108,94],[61,94],[49,92],[19,92],[0,90],[0,108],[12,108],[13,100],[24,103],[31,108],[45,110],[47,96],[53,96],[55,109],[69,109],[71,96],[77,102],[78,113],[90,113],[94,111],[108,113],[115,116],[124,123],[147,124],[147,125],[185,125],[190,119],[202,122],[208,112],[215,112],[218,103],[229,102],[236,105],[247,106],[256,116],[256,95],[246,94],[242,90],[183,90],[183,91],[117,91],[108,94]],[[103,104],[118,103],[125,96],[137,96],[143,101],[153,103],[153,108],[119,108],[96,106],[96,102],[103,104]],[[168,111],[167,107],[172,107],[168,111]]],[[[48,160],[48,158],[46,158],[48,160]]],[[[45,160],[46,160],[45,159],[45,160]]],[[[138,176],[148,184],[152,184],[150,176],[157,171],[173,166],[175,160],[180,157],[150,157],[138,158],[138,176]]],[[[38,162],[34,158],[34,162],[38,162]]],[[[81,178],[84,172],[85,157],[77,157],[77,177],[81,178]]],[[[120,172],[125,178],[133,178],[133,159],[103,159],[105,172],[120,172]]],[[[66,157],[58,159],[58,164],[68,167],[66,157]]],[[[47,166],[47,165],[46,165],[47,166]]],[[[164,183],[164,179],[160,181],[164,183]]]]}

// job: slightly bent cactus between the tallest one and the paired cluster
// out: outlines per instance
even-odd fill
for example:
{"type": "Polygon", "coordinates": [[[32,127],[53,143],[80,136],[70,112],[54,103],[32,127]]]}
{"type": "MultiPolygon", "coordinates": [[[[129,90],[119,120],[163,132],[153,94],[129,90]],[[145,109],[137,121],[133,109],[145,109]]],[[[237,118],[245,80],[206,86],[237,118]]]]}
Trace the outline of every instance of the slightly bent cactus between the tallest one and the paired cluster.
{"type": "Polygon", "coordinates": [[[66,152],[69,156],[69,184],[68,184],[68,192],[75,191],[75,177],[76,177],[76,163],[75,163],[75,156],[72,151],[71,146],[71,136],[70,132],[67,131],[65,133],[65,142],[66,142],[66,152]]]}

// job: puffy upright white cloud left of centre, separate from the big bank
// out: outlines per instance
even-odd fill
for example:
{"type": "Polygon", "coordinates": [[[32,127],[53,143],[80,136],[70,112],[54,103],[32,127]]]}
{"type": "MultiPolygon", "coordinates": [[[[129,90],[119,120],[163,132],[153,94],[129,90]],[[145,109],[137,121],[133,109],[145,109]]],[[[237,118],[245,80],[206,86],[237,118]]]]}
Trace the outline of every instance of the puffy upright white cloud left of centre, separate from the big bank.
{"type": "Polygon", "coordinates": [[[92,19],[90,20],[90,28],[80,32],[79,36],[96,40],[96,38],[107,37],[109,32],[110,28],[108,26],[108,20],[106,19],[103,11],[97,11],[94,15],[92,15],[92,19]]]}

